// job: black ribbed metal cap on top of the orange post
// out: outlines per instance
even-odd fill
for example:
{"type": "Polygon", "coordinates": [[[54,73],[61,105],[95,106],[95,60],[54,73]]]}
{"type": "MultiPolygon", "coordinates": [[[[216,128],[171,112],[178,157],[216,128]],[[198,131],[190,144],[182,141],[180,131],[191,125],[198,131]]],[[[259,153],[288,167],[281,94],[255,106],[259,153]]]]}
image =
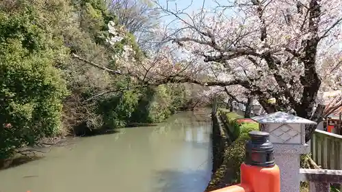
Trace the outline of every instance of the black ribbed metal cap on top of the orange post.
{"type": "Polygon", "coordinates": [[[250,135],[250,141],[246,143],[245,163],[259,167],[274,166],[274,147],[269,142],[269,133],[251,131],[248,135],[250,135]]]}

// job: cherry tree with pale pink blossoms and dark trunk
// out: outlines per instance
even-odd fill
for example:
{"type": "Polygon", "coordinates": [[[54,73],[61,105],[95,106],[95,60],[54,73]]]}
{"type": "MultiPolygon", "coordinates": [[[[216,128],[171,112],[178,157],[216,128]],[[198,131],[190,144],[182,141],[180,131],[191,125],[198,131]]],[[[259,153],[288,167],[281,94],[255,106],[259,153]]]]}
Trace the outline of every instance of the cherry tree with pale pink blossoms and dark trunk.
{"type": "Polygon", "coordinates": [[[224,76],[206,85],[241,85],[268,113],[294,109],[302,118],[319,120],[321,67],[327,55],[339,53],[342,1],[226,2],[188,14],[172,10],[169,1],[155,1],[160,12],[180,23],[167,40],[224,76]]]}

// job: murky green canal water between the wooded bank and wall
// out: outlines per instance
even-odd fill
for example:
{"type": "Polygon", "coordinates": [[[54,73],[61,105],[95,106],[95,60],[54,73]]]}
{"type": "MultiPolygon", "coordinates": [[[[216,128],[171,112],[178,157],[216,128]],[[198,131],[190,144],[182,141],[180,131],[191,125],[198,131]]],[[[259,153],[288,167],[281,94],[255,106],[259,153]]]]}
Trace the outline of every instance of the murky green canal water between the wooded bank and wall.
{"type": "Polygon", "coordinates": [[[1,171],[0,192],[202,192],[211,176],[211,122],[191,114],[74,139],[1,171]]]}

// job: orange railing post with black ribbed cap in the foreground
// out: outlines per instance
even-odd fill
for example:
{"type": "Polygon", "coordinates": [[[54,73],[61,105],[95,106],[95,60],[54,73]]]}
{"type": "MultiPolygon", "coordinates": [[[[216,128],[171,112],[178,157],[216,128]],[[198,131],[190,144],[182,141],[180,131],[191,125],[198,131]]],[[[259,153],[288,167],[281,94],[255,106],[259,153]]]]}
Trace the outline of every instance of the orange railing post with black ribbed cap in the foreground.
{"type": "Polygon", "coordinates": [[[242,163],[241,183],[213,192],[280,192],[280,170],[274,163],[274,148],[269,133],[251,131],[242,163]]]}

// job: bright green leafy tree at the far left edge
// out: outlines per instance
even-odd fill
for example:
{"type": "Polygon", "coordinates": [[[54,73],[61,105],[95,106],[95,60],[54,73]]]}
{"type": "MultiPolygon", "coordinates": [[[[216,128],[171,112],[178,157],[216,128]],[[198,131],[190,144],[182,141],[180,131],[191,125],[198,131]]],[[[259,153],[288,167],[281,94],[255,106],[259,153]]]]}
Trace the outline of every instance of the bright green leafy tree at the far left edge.
{"type": "Polygon", "coordinates": [[[35,14],[0,11],[0,159],[16,148],[58,133],[62,99],[60,71],[53,68],[52,40],[34,24],[35,14]]]}

